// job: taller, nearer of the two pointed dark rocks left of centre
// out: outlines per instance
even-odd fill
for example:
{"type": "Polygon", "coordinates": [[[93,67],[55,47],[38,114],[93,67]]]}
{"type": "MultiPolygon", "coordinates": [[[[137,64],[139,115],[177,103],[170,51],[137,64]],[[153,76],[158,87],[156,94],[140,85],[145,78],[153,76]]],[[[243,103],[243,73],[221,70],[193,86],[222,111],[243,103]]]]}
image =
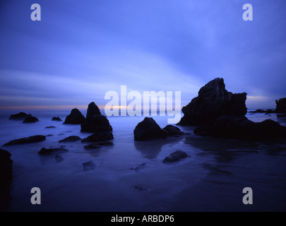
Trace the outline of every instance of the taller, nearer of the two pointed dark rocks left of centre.
{"type": "Polygon", "coordinates": [[[81,132],[97,133],[102,131],[112,131],[112,126],[110,126],[107,117],[100,113],[95,102],[91,102],[88,105],[86,120],[81,124],[81,132]]]}

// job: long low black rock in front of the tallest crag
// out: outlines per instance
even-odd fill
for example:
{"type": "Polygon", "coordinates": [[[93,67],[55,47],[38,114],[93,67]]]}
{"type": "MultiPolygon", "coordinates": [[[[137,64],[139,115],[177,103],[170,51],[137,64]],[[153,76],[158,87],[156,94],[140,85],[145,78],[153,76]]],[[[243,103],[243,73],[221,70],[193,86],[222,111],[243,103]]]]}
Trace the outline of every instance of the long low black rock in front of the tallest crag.
{"type": "Polygon", "coordinates": [[[223,138],[286,138],[286,127],[271,119],[254,123],[246,117],[224,115],[218,117],[212,126],[198,127],[194,133],[223,138]]]}

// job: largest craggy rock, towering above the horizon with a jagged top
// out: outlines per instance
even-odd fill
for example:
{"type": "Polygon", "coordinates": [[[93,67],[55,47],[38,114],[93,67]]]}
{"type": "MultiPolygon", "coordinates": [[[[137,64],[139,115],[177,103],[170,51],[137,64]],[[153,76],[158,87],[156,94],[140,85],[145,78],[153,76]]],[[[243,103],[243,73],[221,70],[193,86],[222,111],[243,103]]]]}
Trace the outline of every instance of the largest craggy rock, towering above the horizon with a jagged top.
{"type": "Polygon", "coordinates": [[[222,115],[244,116],[247,112],[246,93],[231,93],[225,89],[223,78],[215,78],[198,91],[189,105],[182,108],[184,117],[179,125],[213,124],[222,115]]]}

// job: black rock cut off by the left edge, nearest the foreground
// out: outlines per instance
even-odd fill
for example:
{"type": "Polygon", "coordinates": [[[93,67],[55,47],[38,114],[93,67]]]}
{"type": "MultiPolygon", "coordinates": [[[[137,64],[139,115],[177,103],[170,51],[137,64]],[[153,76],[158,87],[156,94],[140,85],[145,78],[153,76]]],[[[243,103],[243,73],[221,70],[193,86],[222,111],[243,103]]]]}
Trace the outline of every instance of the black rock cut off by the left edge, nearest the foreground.
{"type": "Polygon", "coordinates": [[[11,153],[0,148],[0,186],[12,179],[13,161],[10,159],[11,153]]]}

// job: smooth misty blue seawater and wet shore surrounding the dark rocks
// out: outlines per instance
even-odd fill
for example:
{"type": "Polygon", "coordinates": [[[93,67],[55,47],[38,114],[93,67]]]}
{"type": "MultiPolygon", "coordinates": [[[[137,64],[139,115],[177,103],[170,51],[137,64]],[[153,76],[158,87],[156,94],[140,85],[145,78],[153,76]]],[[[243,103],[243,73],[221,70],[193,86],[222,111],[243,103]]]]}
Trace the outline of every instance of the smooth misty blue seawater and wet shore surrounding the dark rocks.
{"type": "MultiPolygon", "coordinates": [[[[240,141],[196,136],[134,141],[133,129],[144,117],[108,117],[114,145],[85,150],[86,143],[59,143],[68,136],[85,138],[80,125],[65,125],[52,117],[69,112],[27,112],[40,121],[22,124],[0,113],[0,145],[34,135],[46,141],[1,147],[11,153],[13,180],[8,211],[286,211],[286,141],[240,141]],[[46,129],[46,126],[56,128],[46,129]],[[41,148],[68,152],[40,156],[41,148]],[[176,150],[191,157],[164,164],[176,150]],[[92,161],[95,169],[83,170],[92,161]],[[143,165],[141,169],[132,168],[143,165]],[[30,203],[32,187],[41,189],[41,205],[30,203]],[[244,187],[251,187],[253,205],[244,205],[244,187]]],[[[85,115],[86,112],[83,112],[85,115]]],[[[247,114],[252,121],[273,119],[286,126],[280,114],[247,114]]],[[[162,128],[167,117],[153,117],[162,128]]]]}

